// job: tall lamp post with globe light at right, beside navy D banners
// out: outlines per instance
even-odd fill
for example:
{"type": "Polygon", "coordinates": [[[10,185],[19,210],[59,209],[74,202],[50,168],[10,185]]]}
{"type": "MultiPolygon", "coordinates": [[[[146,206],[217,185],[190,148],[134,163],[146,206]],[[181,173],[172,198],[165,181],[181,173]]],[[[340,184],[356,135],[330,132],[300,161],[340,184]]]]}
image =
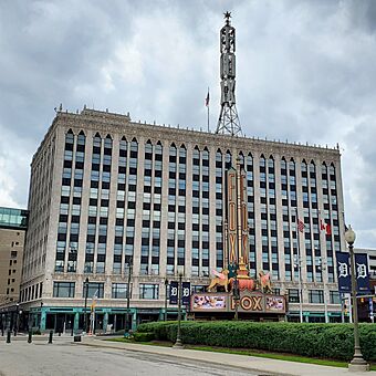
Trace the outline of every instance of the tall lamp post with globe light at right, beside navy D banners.
{"type": "Polygon", "coordinates": [[[352,295],[353,295],[353,320],[354,320],[354,357],[348,364],[348,370],[362,372],[369,370],[369,364],[363,358],[359,344],[359,326],[357,316],[357,302],[356,302],[356,274],[355,274],[355,257],[354,257],[354,242],[356,236],[351,226],[345,232],[345,240],[348,244],[349,262],[352,268],[352,295]]]}

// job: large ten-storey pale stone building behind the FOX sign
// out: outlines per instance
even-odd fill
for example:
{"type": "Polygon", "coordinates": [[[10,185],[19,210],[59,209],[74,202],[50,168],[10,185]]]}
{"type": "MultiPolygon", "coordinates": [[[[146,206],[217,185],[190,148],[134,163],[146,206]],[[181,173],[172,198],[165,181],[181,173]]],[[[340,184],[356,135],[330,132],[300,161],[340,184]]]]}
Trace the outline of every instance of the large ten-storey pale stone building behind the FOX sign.
{"type": "MultiPolygon", "coordinates": [[[[124,327],[130,263],[134,325],[163,317],[166,283],[178,272],[202,291],[211,270],[226,267],[224,176],[238,158],[247,174],[250,274],[271,273],[274,290],[288,295],[289,320],[299,318],[300,274],[305,320],[323,321],[324,301],[331,320],[341,320],[337,148],[140,124],[84,108],[58,112],[31,164],[20,293],[30,324],[82,327],[87,278],[96,325],[124,327]]],[[[173,315],[175,307],[168,310],[173,315]]]]}

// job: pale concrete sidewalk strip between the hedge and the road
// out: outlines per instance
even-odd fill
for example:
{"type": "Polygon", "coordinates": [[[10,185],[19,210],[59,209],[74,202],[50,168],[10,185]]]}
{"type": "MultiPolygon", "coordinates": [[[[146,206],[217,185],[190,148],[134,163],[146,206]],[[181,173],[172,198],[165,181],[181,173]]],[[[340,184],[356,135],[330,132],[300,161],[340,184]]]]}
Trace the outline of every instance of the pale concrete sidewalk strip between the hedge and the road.
{"type": "Polygon", "coordinates": [[[247,356],[247,355],[236,355],[236,354],[224,354],[224,353],[211,353],[202,352],[196,349],[176,349],[173,347],[163,346],[149,346],[139,345],[133,343],[121,343],[103,341],[105,338],[98,340],[96,337],[82,337],[81,345],[105,347],[105,348],[116,348],[125,349],[132,352],[142,352],[155,354],[158,356],[164,356],[170,358],[178,357],[184,359],[189,359],[194,362],[206,362],[211,364],[226,364],[227,366],[232,366],[236,368],[242,368],[250,372],[257,373],[268,373],[271,375],[281,376],[335,376],[335,375],[368,375],[375,376],[376,372],[367,373],[349,373],[347,368],[341,367],[328,367],[320,366],[315,364],[276,361],[262,357],[247,356]]]}

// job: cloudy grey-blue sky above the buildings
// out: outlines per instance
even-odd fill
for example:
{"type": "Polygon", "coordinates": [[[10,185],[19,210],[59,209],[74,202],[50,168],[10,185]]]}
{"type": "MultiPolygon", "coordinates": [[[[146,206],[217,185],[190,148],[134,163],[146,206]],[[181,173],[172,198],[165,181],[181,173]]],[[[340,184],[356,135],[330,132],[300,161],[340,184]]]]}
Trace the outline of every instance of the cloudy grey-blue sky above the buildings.
{"type": "Polygon", "coordinates": [[[219,116],[219,30],[237,29],[247,136],[342,154],[355,246],[376,248],[376,1],[0,2],[0,206],[27,208],[30,163],[54,107],[207,128],[219,116]]]}

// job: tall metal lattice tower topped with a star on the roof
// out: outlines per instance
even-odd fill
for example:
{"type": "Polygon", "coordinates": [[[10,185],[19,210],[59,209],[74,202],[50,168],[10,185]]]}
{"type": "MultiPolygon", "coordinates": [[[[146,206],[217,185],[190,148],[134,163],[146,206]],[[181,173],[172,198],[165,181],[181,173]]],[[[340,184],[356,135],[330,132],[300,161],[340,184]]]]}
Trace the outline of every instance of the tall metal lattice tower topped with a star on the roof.
{"type": "Polygon", "coordinates": [[[220,31],[221,112],[216,133],[242,135],[236,106],[236,29],[231,27],[231,12],[224,13],[226,24],[220,31]]]}

